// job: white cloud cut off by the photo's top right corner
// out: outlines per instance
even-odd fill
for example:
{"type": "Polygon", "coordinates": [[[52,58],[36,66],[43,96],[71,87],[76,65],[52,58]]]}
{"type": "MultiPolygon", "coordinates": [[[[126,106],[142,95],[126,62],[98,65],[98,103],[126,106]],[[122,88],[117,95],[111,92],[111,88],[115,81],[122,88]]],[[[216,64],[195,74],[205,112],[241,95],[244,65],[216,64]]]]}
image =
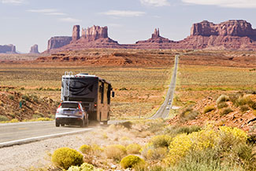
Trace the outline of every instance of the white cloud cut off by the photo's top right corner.
{"type": "Polygon", "coordinates": [[[217,5],[229,8],[256,8],[255,0],[182,0],[188,4],[217,5]]]}

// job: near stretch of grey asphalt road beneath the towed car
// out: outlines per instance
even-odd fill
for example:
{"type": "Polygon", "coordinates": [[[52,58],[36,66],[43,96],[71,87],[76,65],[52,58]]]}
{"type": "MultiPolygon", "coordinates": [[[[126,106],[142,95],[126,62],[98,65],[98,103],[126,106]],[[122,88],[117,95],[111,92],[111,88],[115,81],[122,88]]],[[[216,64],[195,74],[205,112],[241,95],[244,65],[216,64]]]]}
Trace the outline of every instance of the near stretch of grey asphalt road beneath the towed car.
{"type": "Polygon", "coordinates": [[[0,124],[0,147],[31,143],[50,137],[90,131],[76,126],[55,127],[55,122],[20,122],[0,124]]]}

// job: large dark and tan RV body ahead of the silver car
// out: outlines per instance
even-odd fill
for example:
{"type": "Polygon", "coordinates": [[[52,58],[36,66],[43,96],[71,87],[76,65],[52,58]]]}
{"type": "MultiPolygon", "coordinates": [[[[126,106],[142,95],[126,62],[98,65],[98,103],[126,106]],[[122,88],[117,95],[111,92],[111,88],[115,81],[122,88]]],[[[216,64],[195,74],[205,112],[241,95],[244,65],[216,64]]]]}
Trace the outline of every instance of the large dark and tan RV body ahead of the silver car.
{"type": "Polygon", "coordinates": [[[95,75],[65,72],[61,78],[61,101],[80,101],[89,121],[107,123],[110,111],[110,82],[95,75]]]}

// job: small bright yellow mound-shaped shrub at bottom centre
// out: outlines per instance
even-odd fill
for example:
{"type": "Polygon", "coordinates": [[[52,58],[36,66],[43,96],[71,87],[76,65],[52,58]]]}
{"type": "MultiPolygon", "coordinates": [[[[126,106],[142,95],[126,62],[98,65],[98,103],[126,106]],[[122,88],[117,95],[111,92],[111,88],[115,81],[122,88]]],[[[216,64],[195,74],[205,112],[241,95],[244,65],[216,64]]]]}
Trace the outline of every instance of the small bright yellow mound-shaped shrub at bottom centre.
{"type": "Polygon", "coordinates": [[[121,160],[121,166],[124,169],[133,168],[137,165],[144,165],[145,161],[135,155],[128,155],[121,160]]]}

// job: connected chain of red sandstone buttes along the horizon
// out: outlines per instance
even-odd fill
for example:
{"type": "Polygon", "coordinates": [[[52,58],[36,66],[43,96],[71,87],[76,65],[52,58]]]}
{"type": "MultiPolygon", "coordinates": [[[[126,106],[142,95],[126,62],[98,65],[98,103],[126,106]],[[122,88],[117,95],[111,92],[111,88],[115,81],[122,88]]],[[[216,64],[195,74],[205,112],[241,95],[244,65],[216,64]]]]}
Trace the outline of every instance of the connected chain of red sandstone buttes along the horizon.
{"type": "Polygon", "coordinates": [[[180,41],[172,41],[160,35],[159,28],[151,38],[121,45],[108,37],[108,27],[93,26],[82,28],[75,25],[72,37],[50,38],[47,53],[67,50],[109,48],[109,49],[228,49],[256,50],[256,29],[245,20],[228,20],[221,24],[209,21],[193,24],[191,35],[180,41]]]}

